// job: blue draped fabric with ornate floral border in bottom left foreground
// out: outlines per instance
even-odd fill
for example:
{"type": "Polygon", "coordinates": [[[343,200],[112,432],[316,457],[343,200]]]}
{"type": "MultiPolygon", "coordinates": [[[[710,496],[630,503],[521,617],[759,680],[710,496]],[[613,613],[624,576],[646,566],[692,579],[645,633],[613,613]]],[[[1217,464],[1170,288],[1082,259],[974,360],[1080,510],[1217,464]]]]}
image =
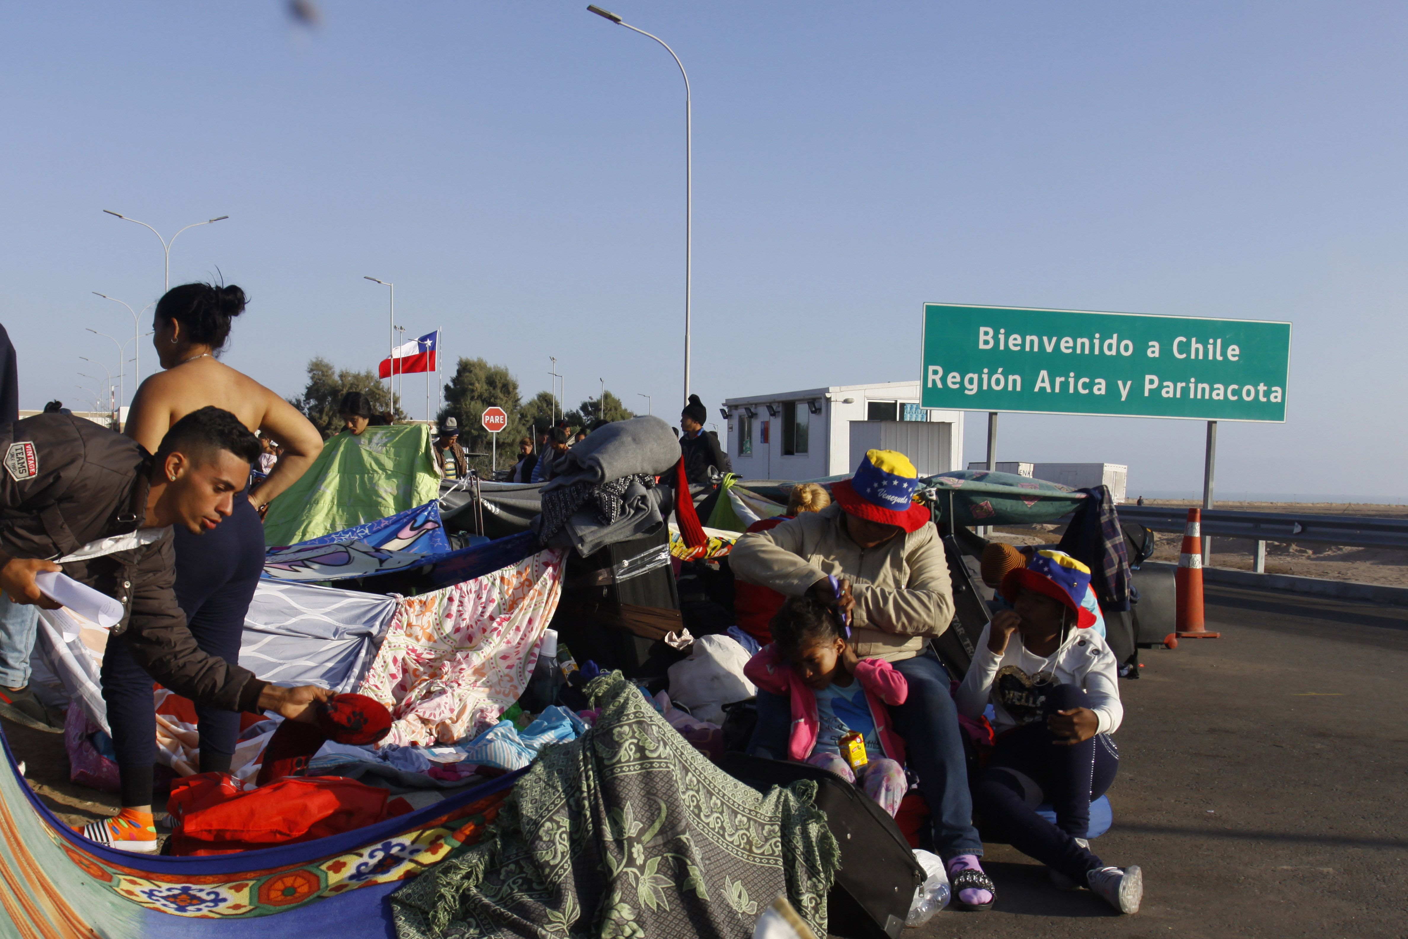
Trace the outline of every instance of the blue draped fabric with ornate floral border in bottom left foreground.
{"type": "Polygon", "coordinates": [[[390,939],[386,895],[476,843],[522,773],[342,835],[165,857],[110,850],[75,833],[21,779],[3,743],[0,936],[7,939],[390,939]]]}

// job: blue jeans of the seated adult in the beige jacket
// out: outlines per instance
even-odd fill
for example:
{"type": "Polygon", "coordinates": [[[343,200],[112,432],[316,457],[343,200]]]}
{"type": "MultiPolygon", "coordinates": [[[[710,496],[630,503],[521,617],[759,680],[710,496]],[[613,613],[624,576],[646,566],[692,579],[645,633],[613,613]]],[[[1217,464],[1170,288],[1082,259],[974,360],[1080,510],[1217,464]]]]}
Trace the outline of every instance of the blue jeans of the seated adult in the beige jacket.
{"type": "MultiPolygon", "coordinates": [[[[957,855],[981,856],[983,842],[973,828],[963,732],[949,694],[949,673],[928,653],[890,664],[910,683],[910,695],[904,704],[890,708],[890,719],[904,741],[907,766],[919,777],[919,791],[929,804],[934,852],[945,862],[957,855]]],[[[786,695],[759,688],[758,725],[748,746],[749,756],[787,759],[790,735],[791,702],[786,695]]]]}

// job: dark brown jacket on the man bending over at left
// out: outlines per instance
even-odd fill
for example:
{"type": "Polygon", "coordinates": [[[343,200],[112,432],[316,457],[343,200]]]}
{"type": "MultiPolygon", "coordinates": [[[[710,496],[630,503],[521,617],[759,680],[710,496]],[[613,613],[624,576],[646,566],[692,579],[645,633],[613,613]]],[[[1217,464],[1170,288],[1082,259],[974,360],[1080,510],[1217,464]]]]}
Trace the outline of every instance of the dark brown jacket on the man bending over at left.
{"type": "MultiPolygon", "coordinates": [[[[152,458],[131,438],[70,414],[39,414],[0,428],[0,546],[14,557],[58,560],[142,527],[152,458]]],[[[63,573],[122,604],[113,635],[125,635],[163,686],[197,704],[258,711],[268,683],[196,645],[176,604],[169,535],[66,563],[63,573]]]]}

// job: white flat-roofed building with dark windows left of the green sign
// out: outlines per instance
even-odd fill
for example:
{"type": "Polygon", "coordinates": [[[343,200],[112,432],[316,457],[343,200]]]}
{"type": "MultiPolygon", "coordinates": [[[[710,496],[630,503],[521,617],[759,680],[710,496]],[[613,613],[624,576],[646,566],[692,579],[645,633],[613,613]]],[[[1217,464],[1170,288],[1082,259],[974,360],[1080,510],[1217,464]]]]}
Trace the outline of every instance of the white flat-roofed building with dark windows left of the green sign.
{"type": "Polygon", "coordinates": [[[919,476],[963,466],[963,411],[921,408],[918,382],[753,394],[722,410],[721,442],[743,479],[843,476],[869,449],[900,450],[919,476]]]}

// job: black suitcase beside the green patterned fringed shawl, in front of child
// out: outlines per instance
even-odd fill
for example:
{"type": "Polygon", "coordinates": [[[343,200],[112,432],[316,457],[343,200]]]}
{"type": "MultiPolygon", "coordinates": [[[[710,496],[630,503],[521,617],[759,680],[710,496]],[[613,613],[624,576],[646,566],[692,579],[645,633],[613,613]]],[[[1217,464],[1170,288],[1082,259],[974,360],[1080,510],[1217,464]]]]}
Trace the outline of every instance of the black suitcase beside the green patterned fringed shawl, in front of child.
{"type": "Polygon", "coordinates": [[[900,935],[925,874],[883,808],[835,773],[805,763],[725,753],[718,766],[759,791],[815,780],[817,807],[841,846],[841,870],[826,895],[826,932],[846,939],[900,935]]]}

